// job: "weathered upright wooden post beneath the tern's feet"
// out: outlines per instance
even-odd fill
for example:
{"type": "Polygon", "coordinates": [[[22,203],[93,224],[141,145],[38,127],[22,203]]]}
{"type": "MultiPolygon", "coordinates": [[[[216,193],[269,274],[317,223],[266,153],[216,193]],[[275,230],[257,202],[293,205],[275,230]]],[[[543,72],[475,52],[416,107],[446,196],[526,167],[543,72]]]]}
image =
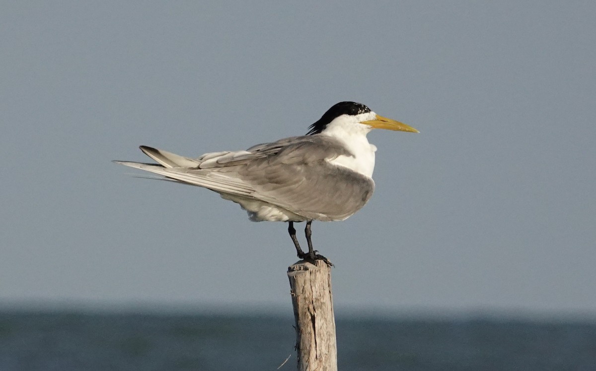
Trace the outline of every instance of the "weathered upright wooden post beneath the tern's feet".
{"type": "Polygon", "coordinates": [[[296,319],[296,351],[299,371],[337,371],[337,344],[331,267],[298,261],[288,267],[296,319]]]}

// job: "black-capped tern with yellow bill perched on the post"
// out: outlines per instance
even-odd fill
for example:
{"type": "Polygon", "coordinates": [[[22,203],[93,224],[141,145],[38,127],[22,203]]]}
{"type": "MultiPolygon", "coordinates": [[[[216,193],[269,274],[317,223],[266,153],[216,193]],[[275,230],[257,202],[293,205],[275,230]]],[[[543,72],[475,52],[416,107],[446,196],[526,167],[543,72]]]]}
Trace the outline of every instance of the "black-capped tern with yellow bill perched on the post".
{"type": "Polygon", "coordinates": [[[373,195],[377,147],[368,142],[367,134],[372,129],[418,130],[356,102],[333,105],[308,129],[306,135],[246,151],[209,152],[197,158],[142,145],[141,151],[157,163],[114,162],[215,191],[240,204],[253,222],[287,222],[300,259],[332,265],[314,250],[311,224],[345,220],[373,195]],[[308,252],[296,238],[297,222],[306,222],[308,252]]]}

